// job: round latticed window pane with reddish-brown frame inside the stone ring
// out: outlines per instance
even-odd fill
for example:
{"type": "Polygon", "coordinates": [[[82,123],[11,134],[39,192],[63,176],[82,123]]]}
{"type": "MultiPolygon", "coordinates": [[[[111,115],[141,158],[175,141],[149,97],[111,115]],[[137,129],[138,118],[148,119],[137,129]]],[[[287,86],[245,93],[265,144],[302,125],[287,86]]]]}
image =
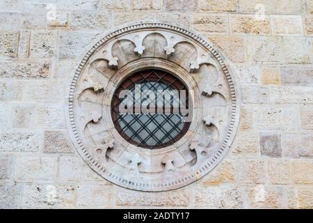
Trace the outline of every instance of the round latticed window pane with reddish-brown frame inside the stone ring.
{"type": "Polygon", "coordinates": [[[169,146],[181,139],[189,128],[190,122],[185,121],[184,117],[190,114],[182,112],[180,108],[178,111],[174,109],[174,105],[183,103],[185,111],[188,111],[188,94],[186,86],[168,72],[162,70],[136,72],[123,80],[113,95],[111,115],[115,128],[122,137],[136,146],[150,149],[169,146]],[[121,97],[122,90],[128,90],[131,94],[121,97]],[[160,91],[173,90],[176,92],[184,90],[186,98],[164,98],[158,95],[160,91]],[[139,91],[141,98],[138,98],[139,91]],[[151,96],[153,93],[155,97],[151,96]],[[152,102],[161,107],[149,107],[152,102]],[[127,112],[121,112],[121,107],[124,105],[128,105],[127,112]],[[136,110],[138,106],[145,107],[143,105],[148,105],[146,107],[154,112],[136,110]]]}

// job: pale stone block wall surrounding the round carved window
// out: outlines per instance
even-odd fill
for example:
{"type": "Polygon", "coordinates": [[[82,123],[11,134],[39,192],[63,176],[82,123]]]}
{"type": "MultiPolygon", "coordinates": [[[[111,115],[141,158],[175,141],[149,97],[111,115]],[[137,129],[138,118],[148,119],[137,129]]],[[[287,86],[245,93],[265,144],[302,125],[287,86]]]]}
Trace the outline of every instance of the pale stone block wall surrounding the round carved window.
{"type": "Polygon", "coordinates": [[[0,207],[313,208],[312,13],[312,0],[1,0],[0,207]],[[143,20],[206,35],[241,96],[225,159],[168,192],[127,190],[95,174],[65,122],[83,47],[143,20]]]}

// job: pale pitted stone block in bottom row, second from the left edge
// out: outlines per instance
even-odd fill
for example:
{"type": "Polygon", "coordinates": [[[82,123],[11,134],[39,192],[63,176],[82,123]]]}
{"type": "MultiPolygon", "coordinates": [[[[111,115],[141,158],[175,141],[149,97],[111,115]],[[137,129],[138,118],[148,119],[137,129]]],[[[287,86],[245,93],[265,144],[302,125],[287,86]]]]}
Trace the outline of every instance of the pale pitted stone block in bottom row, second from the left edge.
{"type": "Polygon", "coordinates": [[[24,208],[73,208],[77,188],[74,185],[25,184],[24,208]]]}

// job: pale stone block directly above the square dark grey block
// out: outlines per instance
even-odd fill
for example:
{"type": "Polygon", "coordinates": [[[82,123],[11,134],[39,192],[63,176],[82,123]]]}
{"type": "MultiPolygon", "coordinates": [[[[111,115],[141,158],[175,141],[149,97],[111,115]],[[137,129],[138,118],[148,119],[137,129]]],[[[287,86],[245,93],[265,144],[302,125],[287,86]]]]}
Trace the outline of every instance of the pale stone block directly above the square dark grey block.
{"type": "Polygon", "coordinates": [[[258,107],[255,109],[255,128],[260,130],[293,130],[296,128],[295,109],[258,107]]]}

